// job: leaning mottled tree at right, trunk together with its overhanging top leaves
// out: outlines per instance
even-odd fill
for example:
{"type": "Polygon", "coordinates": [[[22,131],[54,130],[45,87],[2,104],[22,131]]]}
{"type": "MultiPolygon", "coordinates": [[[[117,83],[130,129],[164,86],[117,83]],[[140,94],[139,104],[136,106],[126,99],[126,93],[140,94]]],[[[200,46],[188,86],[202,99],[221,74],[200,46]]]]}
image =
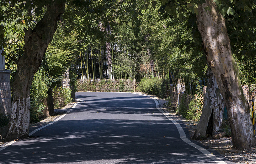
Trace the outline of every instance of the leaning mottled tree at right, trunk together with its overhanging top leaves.
{"type": "MultiPolygon", "coordinates": [[[[252,12],[251,1],[205,0],[205,1],[166,1],[162,0],[167,13],[181,20],[189,13],[197,14],[197,27],[202,36],[203,48],[208,65],[216,78],[220,93],[228,110],[231,125],[233,147],[246,149],[255,145],[249,104],[244,96],[234,56],[231,51],[230,39],[225,26],[224,15],[234,15],[230,6],[234,5],[239,12],[252,12]],[[249,6],[248,6],[249,5],[249,6]]],[[[229,16],[231,17],[231,16],[229,16]]],[[[244,17],[244,18],[246,18],[244,17]]]]}

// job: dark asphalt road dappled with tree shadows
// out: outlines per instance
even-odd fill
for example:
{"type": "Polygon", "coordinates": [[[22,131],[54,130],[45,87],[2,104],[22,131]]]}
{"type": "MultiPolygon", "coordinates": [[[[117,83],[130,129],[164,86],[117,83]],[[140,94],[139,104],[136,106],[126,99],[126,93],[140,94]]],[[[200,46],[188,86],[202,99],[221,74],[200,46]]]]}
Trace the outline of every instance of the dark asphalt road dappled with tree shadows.
{"type": "Polygon", "coordinates": [[[2,149],[0,163],[231,164],[212,150],[207,157],[206,149],[194,148],[180,136],[187,134],[185,125],[175,125],[145,95],[79,92],[76,99],[81,101],[58,121],[2,149]]]}

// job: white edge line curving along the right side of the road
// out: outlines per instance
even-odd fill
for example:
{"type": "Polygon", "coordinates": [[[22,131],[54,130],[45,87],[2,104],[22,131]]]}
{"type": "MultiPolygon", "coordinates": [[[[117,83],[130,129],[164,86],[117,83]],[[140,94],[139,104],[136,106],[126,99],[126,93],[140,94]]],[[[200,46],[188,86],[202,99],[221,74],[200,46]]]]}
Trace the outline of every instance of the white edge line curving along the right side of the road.
{"type": "MultiPolygon", "coordinates": [[[[134,94],[139,94],[139,93],[134,93],[134,94]]],[[[145,94],[139,94],[139,95],[145,95],[145,94]]],[[[148,95],[145,95],[148,96],[148,95]]],[[[149,97],[149,96],[148,96],[149,97]]],[[[162,114],[164,114],[167,119],[169,119],[170,121],[172,121],[172,123],[174,123],[174,125],[177,127],[178,132],[180,133],[180,138],[181,140],[183,140],[184,142],[186,142],[187,144],[191,145],[192,147],[198,149],[201,153],[203,153],[204,155],[206,155],[208,158],[212,159],[214,162],[216,162],[217,164],[227,164],[226,162],[224,162],[222,159],[216,157],[215,155],[213,155],[212,153],[210,153],[208,150],[204,149],[203,147],[191,142],[190,140],[188,140],[188,138],[186,137],[186,133],[185,131],[182,129],[181,125],[178,124],[178,122],[176,122],[174,119],[172,119],[172,117],[165,113],[165,111],[163,111],[161,108],[159,108],[159,103],[156,100],[156,98],[154,97],[150,97],[155,101],[156,104],[156,109],[158,109],[159,111],[161,111],[162,114]]]]}

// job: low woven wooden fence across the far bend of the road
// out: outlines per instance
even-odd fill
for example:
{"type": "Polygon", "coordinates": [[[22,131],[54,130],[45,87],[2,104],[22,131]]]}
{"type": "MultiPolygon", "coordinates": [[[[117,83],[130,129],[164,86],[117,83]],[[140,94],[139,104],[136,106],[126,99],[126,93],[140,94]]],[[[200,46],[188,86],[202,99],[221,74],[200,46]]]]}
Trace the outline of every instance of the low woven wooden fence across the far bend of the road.
{"type": "Polygon", "coordinates": [[[92,92],[138,92],[136,80],[78,80],[78,91],[92,92]]]}

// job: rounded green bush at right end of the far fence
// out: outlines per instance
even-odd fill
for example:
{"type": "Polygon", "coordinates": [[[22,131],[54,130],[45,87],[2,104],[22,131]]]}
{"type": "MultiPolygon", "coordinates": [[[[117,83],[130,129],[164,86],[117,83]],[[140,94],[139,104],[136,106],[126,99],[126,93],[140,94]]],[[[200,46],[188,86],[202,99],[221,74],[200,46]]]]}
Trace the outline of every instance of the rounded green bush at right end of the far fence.
{"type": "Polygon", "coordinates": [[[157,95],[160,98],[165,98],[166,96],[166,84],[167,80],[154,78],[144,78],[139,83],[139,89],[141,92],[157,95]]]}

